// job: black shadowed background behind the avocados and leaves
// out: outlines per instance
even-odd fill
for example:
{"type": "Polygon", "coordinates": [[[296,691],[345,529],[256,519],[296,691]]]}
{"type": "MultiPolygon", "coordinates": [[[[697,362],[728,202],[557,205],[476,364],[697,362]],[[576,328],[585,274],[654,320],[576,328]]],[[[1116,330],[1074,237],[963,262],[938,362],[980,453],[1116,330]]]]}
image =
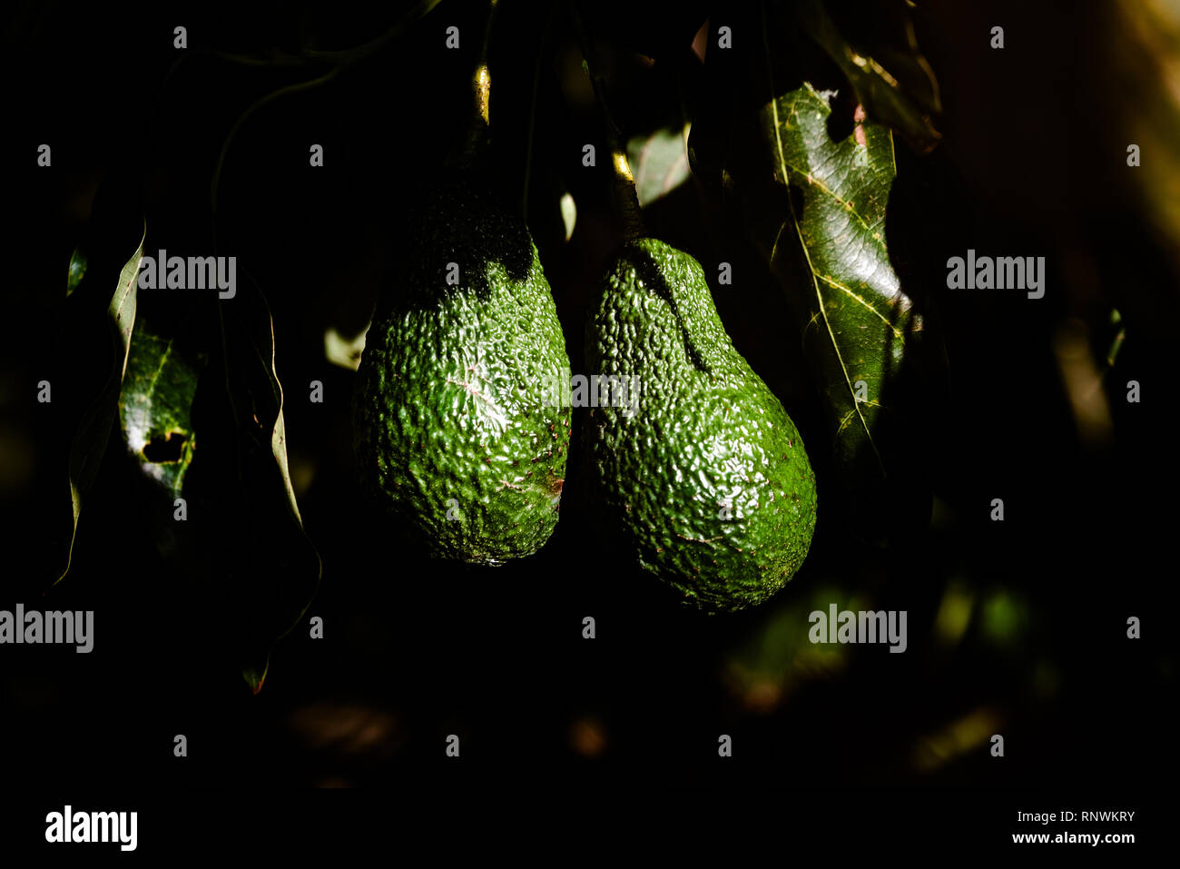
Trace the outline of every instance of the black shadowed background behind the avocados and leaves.
{"type": "MultiPolygon", "coordinates": [[[[494,159],[505,195],[519,202],[532,156],[530,227],[578,372],[585,308],[618,236],[605,161],[581,165],[583,143],[605,148],[576,40],[563,7],[549,6],[504,0],[491,59],[494,159]],[[563,185],[577,204],[568,244],[563,185]]],[[[666,6],[603,4],[591,14],[628,135],[680,128],[703,99],[690,46],[707,5],[666,6]]],[[[142,189],[146,253],[211,253],[209,184],[230,125],[258,97],[324,68],[249,66],[204,50],[352,47],[402,9],[9,8],[0,607],[94,609],[96,646],[90,655],[0,651],[6,778],[52,772],[138,788],[577,776],[611,786],[1086,783],[1147,792],[1171,760],[1174,732],[1165,697],[1175,692],[1166,638],[1178,285],[1171,236],[1132,176],[1163,172],[1175,158],[1145,150],[1142,169],[1126,165],[1127,130],[1161,111],[1163,85],[1110,8],[931,2],[916,12],[943,89],[944,139],[919,156],[898,138],[889,234],[903,287],[929,315],[931,346],[945,347],[937,388],[916,409],[925,463],[916,473],[930,477],[932,522],[881,553],[821,507],[811,555],[788,587],[726,618],[668,607],[651,580],[617,560],[579,511],[573,470],[549,544],[498,569],[419,557],[354,481],[354,374],[324,359],[324,329],[362,328],[396,274],[391,233],[461,126],[480,11],[444,0],[330,83],[260,109],[227,156],[217,251],[236,255],[270,303],[291,475],[323,562],[308,615],[323,618],[324,639],[297,626],[251,695],[224,638],[234,589],[175,580],[157,548],[157,502],[117,431],[81,514],[73,568],[39,596],[34,508],[54,491],[46,479],[61,491],[65,456],[35,384],[52,361],[66,264],[99,184],[126,177],[126,189],[142,189]],[[177,24],[188,27],[191,57],[173,68],[177,24]],[[444,46],[452,24],[458,52],[444,46]],[[994,24],[1005,28],[1003,51],[989,48],[994,24]],[[52,169],[35,165],[42,142],[52,169]],[[324,148],[323,169],[308,166],[312,142],[324,148]],[[945,290],[946,259],[969,247],[1045,256],[1045,298],[945,290]],[[1101,370],[1112,308],[1127,327],[1103,375],[1112,439],[1087,443],[1055,346],[1073,322],[1101,370]],[[316,379],[323,404],[307,400],[316,379]],[[1140,404],[1125,399],[1129,379],[1141,384],[1140,404]],[[1004,499],[1003,523],[989,521],[994,497],[1004,499]],[[946,639],[938,613],[955,601],[971,615],[946,639]],[[817,656],[806,614],[828,602],[907,610],[907,652],[847,646],[817,656]],[[597,620],[594,641],[582,639],[585,615],[597,620]],[[1129,615],[1142,619],[1143,639],[1126,638],[1129,615]],[[1005,738],[1002,759],[988,751],[994,732],[1005,738]],[[176,733],[188,737],[186,759],[172,756],[176,733]],[[448,733],[461,738],[459,763],[444,756],[448,733]],[[733,736],[733,758],[717,757],[720,733],[733,736]]],[[[714,13],[710,27],[727,14],[749,20],[747,9],[714,13]]],[[[741,51],[748,31],[735,33],[741,51]]],[[[825,504],[818,401],[782,287],[719,191],[689,182],[647,217],[653,235],[706,263],[710,281],[709,263],[735,263],[734,285],[714,287],[720,314],[801,430],[825,504]]],[[[143,292],[140,313],[199,344],[214,295],[143,292]]],[[[197,443],[194,475],[199,434],[197,443]]]]}

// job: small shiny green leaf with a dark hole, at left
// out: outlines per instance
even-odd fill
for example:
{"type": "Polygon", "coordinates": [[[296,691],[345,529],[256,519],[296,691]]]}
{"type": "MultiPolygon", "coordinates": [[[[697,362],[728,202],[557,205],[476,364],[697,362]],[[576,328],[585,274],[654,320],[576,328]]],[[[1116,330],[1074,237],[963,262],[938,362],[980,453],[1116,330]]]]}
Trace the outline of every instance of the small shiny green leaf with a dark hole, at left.
{"type": "Polygon", "coordinates": [[[144,473],[177,497],[196,449],[196,392],[197,366],[140,318],[119,396],[123,436],[144,473]]]}

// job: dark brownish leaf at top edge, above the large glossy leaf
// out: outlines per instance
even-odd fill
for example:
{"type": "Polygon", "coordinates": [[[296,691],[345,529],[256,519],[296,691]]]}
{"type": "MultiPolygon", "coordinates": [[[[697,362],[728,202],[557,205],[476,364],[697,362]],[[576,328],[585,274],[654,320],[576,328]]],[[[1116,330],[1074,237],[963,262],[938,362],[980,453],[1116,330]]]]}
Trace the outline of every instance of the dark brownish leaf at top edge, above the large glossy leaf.
{"type": "Polygon", "coordinates": [[[919,151],[931,150],[942,138],[930,119],[942,111],[938,83],[918,48],[903,0],[846,6],[847,14],[840,21],[830,14],[830,7],[837,11],[839,6],[798,0],[792,9],[804,31],[852,84],[868,118],[893,128],[919,151]],[[854,39],[844,32],[854,26],[846,19],[859,19],[854,39]],[[883,33],[897,37],[891,40],[883,33]]]}

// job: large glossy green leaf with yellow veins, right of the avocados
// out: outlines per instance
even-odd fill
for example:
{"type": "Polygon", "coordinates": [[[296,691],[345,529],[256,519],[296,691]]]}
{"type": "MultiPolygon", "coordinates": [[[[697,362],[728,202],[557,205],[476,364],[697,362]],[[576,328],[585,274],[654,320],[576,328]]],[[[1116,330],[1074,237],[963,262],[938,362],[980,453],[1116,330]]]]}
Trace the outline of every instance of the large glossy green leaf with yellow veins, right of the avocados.
{"type": "MultiPolygon", "coordinates": [[[[922,486],[911,479],[912,456],[905,443],[898,446],[890,404],[922,318],[885,242],[897,171],[892,133],[861,122],[848,138],[832,142],[828,98],[805,83],[762,110],[773,179],[799,196],[776,197],[754,231],[798,302],[804,352],[827,411],[838,482],[859,515],[858,534],[885,543],[892,520],[909,514],[898,509],[903,495],[916,489],[913,505],[923,501],[922,486]]],[[[929,503],[925,510],[929,518],[929,503]]]]}

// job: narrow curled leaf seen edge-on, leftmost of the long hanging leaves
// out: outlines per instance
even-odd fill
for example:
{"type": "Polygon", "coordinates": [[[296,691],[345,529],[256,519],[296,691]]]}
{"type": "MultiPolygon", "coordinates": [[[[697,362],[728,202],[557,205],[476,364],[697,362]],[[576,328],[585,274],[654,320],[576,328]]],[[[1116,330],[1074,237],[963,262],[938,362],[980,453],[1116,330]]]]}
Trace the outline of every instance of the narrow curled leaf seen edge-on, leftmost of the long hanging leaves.
{"type": "MultiPolygon", "coordinates": [[[[105,220],[97,205],[96,215],[100,220],[105,220]]],[[[66,541],[64,544],[65,554],[58,562],[59,567],[54,569],[54,583],[60,582],[70,571],[70,563],[73,557],[73,543],[78,532],[78,517],[81,514],[83,501],[98,476],[99,465],[106,452],[111,427],[118,413],[119,391],[123,384],[123,373],[126,368],[131,333],[135,328],[139,289],[139,261],[143,259],[144,239],[146,237],[148,228],[140,216],[139,237],[135,246],[135,253],[123,263],[122,269],[116,275],[113,273],[113,263],[118,262],[118,260],[112,259],[111,246],[109,243],[110,239],[120,231],[120,227],[116,224],[122,224],[122,228],[124,228],[123,231],[127,227],[126,223],[120,221],[111,221],[111,226],[104,226],[96,233],[96,237],[103,237],[107,243],[104,243],[103,247],[105,249],[94,257],[97,262],[93,267],[86,267],[85,263],[91,257],[81,251],[76,251],[70,263],[70,285],[73,286],[73,292],[70,294],[68,300],[71,307],[67,312],[70,326],[73,327],[74,334],[79,329],[91,329],[90,324],[93,322],[93,319],[97,319],[98,305],[105,301],[105,327],[110,338],[111,353],[109,355],[110,366],[106,368],[105,379],[92,398],[87,399],[85,397],[86,387],[81,385],[83,372],[77,368],[70,372],[71,375],[78,378],[71,385],[76,386],[78,392],[83,393],[80,406],[84,410],[80,417],[78,417],[77,424],[66,424],[73,430],[68,463],[72,520],[63,537],[66,541]],[[76,275],[78,275],[77,281],[74,281],[76,275]]],[[[126,247],[130,247],[130,244],[126,247]]],[[[86,360],[78,362],[78,365],[85,364],[86,360]]],[[[93,365],[93,361],[90,361],[90,365],[93,365]]],[[[63,387],[66,387],[66,384],[59,381],[58,388],[63,387]]]]}

